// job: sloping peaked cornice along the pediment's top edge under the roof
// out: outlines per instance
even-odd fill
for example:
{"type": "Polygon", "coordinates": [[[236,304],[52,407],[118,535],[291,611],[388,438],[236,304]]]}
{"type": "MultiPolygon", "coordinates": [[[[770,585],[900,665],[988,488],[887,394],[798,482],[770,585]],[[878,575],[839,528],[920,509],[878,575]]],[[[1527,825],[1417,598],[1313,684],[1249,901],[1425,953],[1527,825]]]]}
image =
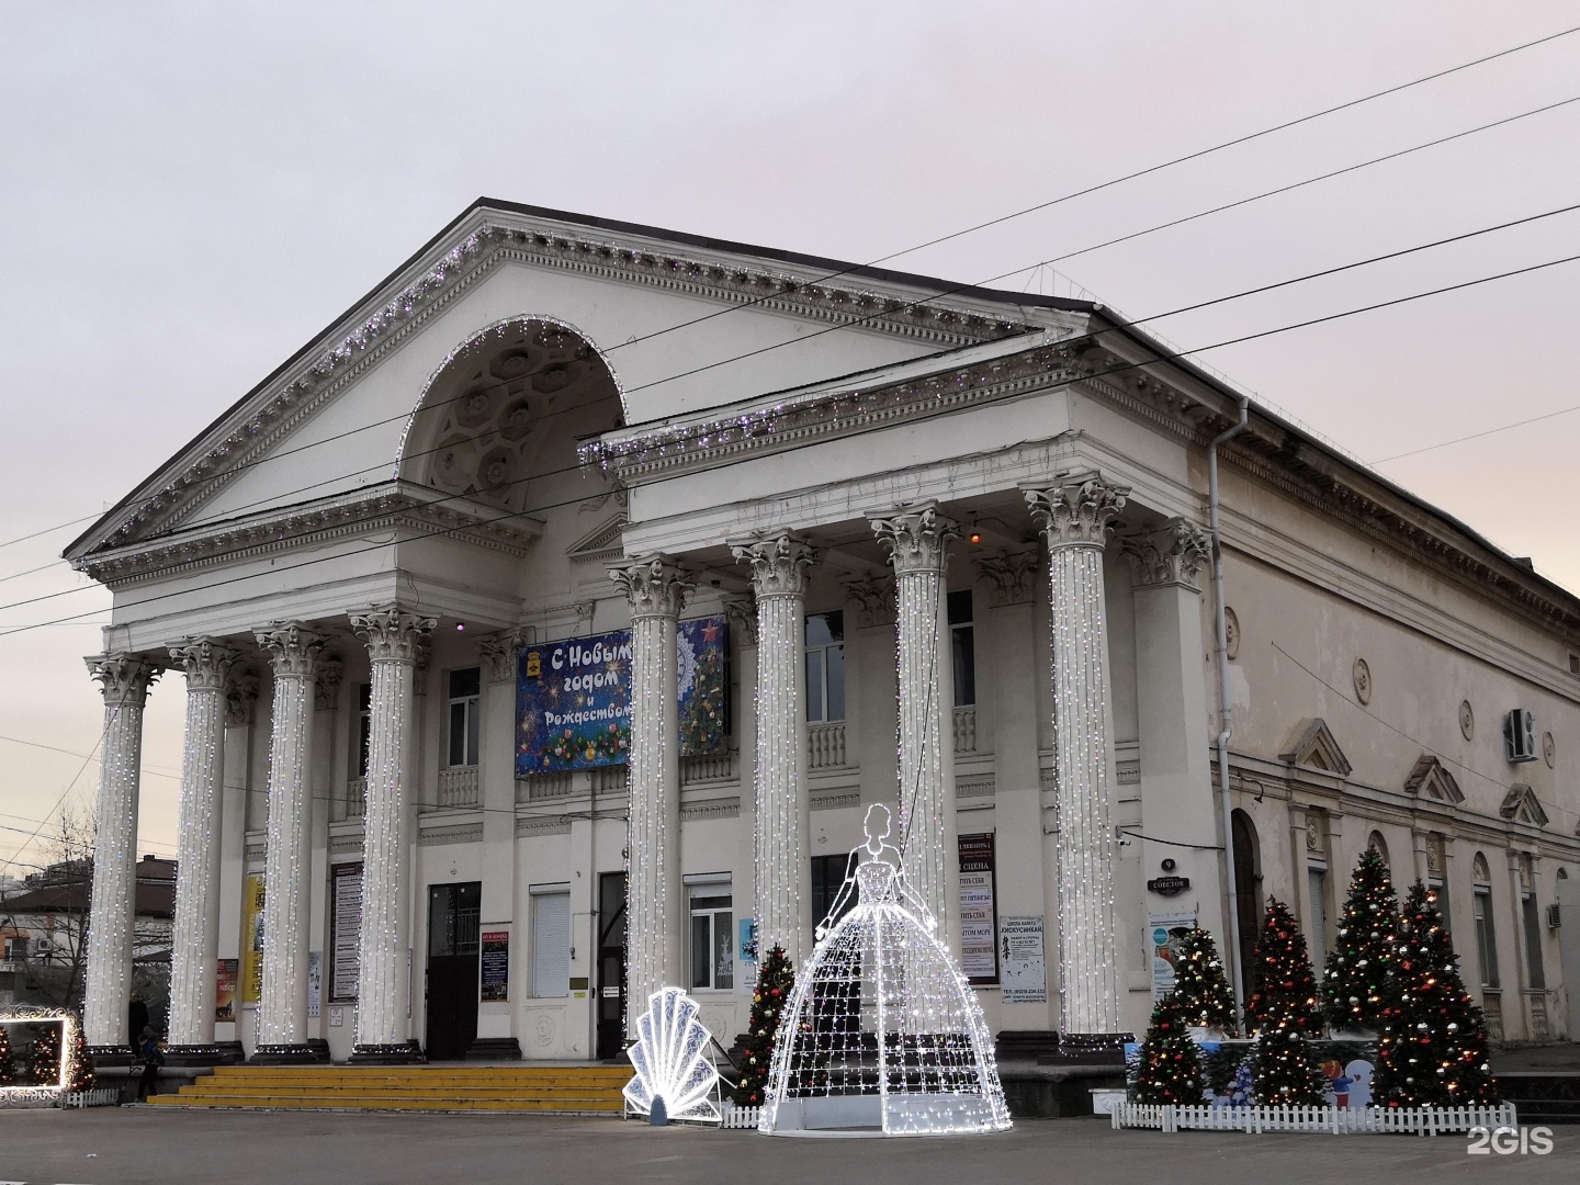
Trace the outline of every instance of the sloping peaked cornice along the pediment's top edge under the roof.
{"type": "Polygon", "coordinates": [[[758,261],[706,259],[697,250],[668,250],[678,245],[660,242],[640,235],[621,242],[613,235],[570,231],[547,218],[480,212],[472,229],[455,231],[450,246],[408,269],[404,283],[384,288],[344,318],[341,324],[349,322],[349,329],[303,349],[202,441],[145,482],[122,507],[122,521],[96,526],[84,539],[81,555],[122,547],[190,518],[228,485],[231,476],[269,452],[414,329],[501,264],[551,267],[727,305],[750,303],[769,313],[828,324],[860,324],[940,349],[1043,327],[1005,316],[1006,308],[999,302],[972,302],[959,295],[920,299],[899,280],[877,291],[758,261]]]}

